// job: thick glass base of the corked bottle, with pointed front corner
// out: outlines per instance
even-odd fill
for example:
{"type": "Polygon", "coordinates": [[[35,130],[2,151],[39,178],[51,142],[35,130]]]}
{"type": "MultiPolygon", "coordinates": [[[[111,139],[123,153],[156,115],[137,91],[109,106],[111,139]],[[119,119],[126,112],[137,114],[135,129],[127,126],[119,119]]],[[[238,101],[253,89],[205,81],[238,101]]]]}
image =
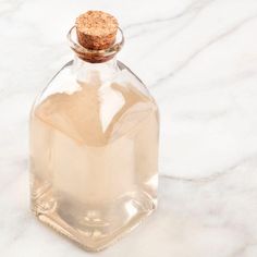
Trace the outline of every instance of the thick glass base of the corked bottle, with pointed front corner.
{"type": "Polygon", "coordinates": [[[74,205],[73,199],[63,199],[48,192],[32,200],[32,211],[39,221],[88,252],[99,252],[114,244],[156,209],[156,200],[144,192],[130,193],[119,203],[100,207],[74,205]]]}

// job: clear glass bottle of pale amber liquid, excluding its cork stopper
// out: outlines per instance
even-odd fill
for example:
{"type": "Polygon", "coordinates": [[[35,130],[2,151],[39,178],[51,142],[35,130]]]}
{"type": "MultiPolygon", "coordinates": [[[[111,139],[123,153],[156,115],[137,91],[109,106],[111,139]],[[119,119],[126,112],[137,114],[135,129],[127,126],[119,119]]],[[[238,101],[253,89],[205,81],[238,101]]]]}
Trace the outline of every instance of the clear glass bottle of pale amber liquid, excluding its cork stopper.
{"type": "Polygon", "coordinates": [[[88,250],[113,243],[157,205],[158,109],[115,60],[124,41],[118,32],[96,50],[77,41],[74,26],[68,38],[75,58],[30,114],[32,210],[88,250]]]}

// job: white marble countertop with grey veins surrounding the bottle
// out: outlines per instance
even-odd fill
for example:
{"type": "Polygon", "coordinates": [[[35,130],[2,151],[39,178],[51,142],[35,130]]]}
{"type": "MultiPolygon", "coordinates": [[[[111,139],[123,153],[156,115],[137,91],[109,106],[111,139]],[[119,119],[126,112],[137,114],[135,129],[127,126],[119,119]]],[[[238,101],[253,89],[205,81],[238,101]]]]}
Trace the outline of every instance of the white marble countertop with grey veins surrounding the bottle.
{"type": "Polygon", "coordinates": [[[120,20],[161,113],[159,209],[95,256],[256,257],[256,0],[1,0],[0,256],[91,256],[33,218],[27,169],[33,99],[88,9],[120,20]]]}

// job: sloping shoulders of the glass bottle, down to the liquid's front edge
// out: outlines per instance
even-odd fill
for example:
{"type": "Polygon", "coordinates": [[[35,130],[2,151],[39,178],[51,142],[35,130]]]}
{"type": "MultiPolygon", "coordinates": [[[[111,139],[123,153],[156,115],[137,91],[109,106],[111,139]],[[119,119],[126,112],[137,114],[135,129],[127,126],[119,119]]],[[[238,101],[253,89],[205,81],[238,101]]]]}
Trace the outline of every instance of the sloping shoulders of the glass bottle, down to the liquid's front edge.
{"type": "Polygon", "coordinates": [[[98,73],[79,82],[66,65],[51,81],[33,110],[32,119],[65,133],[81,144],[100,146],[120,137],[145,119],[158,122],[155,100],[127,70],[102,82],[98,73]]]}

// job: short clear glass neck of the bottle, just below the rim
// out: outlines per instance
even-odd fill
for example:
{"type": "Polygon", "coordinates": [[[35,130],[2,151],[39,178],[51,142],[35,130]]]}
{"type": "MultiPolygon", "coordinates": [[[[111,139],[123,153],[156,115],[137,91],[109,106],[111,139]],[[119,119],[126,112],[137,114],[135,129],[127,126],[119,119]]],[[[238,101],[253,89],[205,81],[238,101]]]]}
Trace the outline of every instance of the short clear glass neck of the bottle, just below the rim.
{"type": "Polygon", "coordinates": [[[89,83],[97,76],[102,84],[112,81],[118,72],[119,66],[115,57],[100,63],[87,62],[76,54],[74,57],[73,73],[78,82],[89,83]]]}

